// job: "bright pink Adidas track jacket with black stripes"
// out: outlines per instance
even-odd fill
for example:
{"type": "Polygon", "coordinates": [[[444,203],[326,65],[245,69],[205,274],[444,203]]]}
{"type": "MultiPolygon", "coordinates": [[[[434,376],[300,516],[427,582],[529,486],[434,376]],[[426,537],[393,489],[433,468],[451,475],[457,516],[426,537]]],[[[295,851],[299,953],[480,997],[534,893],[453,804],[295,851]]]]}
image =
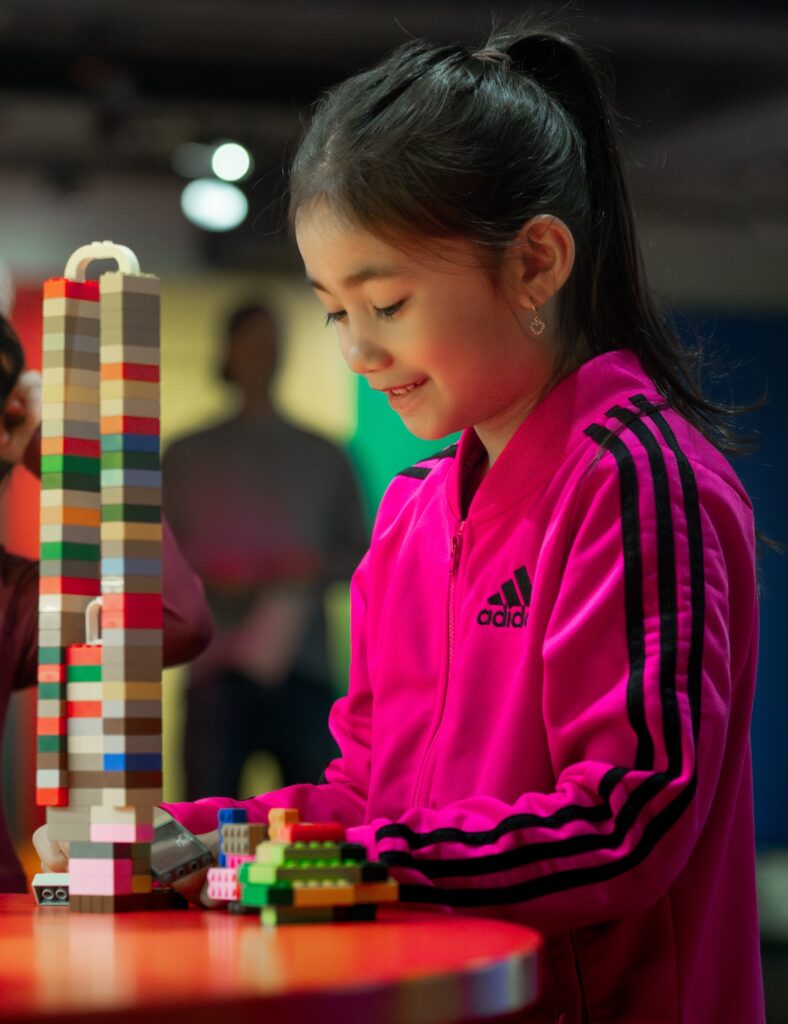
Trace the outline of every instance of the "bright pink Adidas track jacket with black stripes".
{"type": "Polygon", "coordinates": [[[478,452],[387,490],[325,782],[168,810],[298,807],[403,900],[540,930],[528,1020],[760,1024],[747,496],[630,352],[562,381],[463,518],[478,452]]]}

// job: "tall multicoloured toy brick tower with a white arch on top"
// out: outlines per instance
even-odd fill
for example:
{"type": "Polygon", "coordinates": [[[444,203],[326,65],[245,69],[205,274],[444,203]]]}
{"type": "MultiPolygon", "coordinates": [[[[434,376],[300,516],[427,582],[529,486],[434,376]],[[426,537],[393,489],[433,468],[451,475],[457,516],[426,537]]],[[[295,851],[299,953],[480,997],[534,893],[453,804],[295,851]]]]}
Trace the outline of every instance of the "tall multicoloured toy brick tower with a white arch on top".
{"type": "Polygon", "coordinates": [[[72,908],[138,908],[162,799],[159,280],[77,250],[44,285],[43,361],[37,799],[72,908]],[[97,259],[119,269],[85,281],[97,259]]]}

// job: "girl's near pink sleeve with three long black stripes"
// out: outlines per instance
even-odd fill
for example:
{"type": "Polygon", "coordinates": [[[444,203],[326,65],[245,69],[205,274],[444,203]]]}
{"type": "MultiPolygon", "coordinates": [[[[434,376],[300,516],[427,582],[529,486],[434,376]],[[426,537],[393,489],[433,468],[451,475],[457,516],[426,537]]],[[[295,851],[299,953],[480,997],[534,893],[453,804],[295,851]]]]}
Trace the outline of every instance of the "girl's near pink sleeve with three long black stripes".
{"type": "MultiPolygon", "coordinates": [[[[705,503],[677,445],[608,441],[565,520],[544,612],[555,786],[351,829],[403,900],[515,912],[544,932],[604,922],[659,898],[703,829],[732,703],[727,558],[754,594],[749,509],[713,482],[705,503]]],[[[532,615],[539,582],[537,567],[532,615]]],[[[755,621],[753,597],[742,646],[755,621]]]]}

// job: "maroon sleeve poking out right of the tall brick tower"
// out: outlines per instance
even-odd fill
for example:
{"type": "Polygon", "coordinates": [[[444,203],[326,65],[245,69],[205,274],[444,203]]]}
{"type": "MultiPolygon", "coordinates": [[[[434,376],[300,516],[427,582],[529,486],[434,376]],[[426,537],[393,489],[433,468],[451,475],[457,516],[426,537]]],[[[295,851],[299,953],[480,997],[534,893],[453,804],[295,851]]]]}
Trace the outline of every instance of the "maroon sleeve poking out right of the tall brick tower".
{"type": "Polygon", "coordinates": [[[164,664],[180,665],[202,653],[213,636],[213,618],[200,577],[181,554],[167,519],[162,517],[162,598],[164,664]]]}

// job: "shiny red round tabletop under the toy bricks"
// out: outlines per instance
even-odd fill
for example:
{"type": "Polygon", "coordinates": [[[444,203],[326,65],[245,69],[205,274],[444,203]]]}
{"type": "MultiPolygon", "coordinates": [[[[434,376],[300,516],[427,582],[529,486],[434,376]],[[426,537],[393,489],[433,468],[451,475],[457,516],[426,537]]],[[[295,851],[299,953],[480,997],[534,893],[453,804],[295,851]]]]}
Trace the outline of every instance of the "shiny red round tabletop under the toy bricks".
{"type": "Polygon", "coordinates": [[[262,928],[224,911],[72,913],[0,895],[0,1020],[450,1024],[532,1006],[539,936],[400,907],[262,928]]]}

